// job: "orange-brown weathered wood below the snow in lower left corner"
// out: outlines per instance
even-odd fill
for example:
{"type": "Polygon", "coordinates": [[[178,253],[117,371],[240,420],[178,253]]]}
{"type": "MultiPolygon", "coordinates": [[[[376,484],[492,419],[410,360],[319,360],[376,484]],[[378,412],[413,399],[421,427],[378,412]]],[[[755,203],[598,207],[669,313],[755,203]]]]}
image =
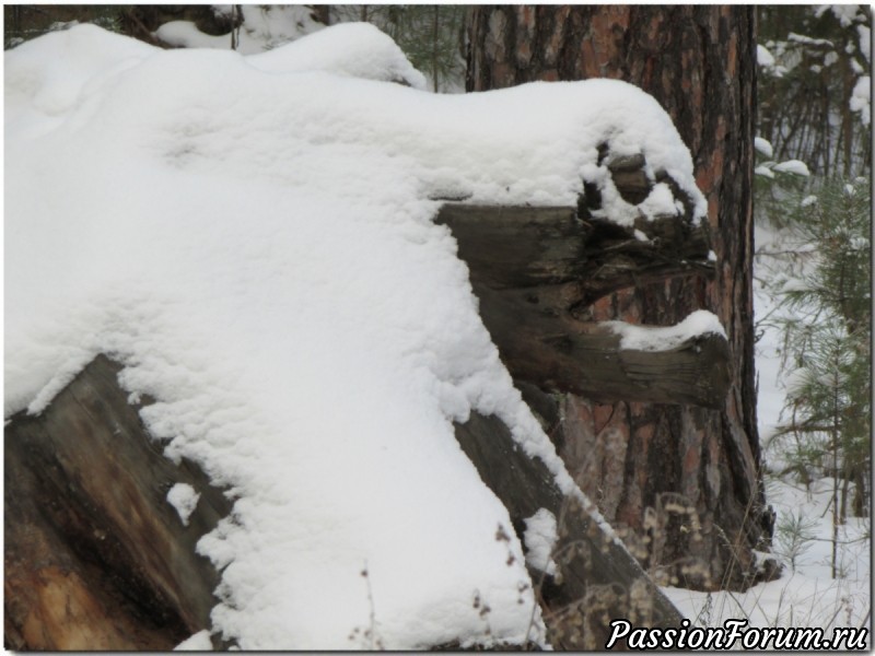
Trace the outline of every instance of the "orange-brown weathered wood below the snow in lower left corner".
{"type": "Polygon", "coordinates": [[[4,430],[4,644],[172,649],[210,626],[219,583],[198,539],[231,503],[162,455],[98,356],[38,417],[4,430]],[[200,493],[184,526],[170,488],[200,493]]]}

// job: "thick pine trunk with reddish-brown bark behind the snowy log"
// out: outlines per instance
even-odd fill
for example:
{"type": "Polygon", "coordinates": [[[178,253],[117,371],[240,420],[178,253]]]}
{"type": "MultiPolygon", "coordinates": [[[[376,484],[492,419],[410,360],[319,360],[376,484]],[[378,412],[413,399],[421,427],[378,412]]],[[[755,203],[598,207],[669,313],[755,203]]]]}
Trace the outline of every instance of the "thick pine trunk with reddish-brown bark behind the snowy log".
{"type": "Polygon", "coordinates": [[[478,7],[470,25],[468,91],[620,79],[663,105],[692,153],[716,277],[620,290],[579,318],[670,325],[710,309],[731,348],[723,409],[567,395],[552,434],[581,488],[628,529],[657,579],[705,589],[750,585],[751,549],[768,543],[773,522],[754,378],[755,32],[752,8],[710,5],[478,7]]]}

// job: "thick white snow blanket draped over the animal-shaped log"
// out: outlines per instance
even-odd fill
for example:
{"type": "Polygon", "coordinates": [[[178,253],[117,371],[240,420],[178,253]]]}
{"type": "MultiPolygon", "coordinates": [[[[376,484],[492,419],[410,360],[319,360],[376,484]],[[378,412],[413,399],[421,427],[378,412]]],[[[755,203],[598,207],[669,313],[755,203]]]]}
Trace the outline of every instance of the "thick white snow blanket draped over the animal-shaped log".
{"type": "MultiPolygon", "coordinates": [[[[86,25],[5,54],[5,417],[97,353],[124,363],[167,456],[233,491],[198,549],[225,567],[213,631],[247,649],[368,647],[349,636],[372,613],[389,648],[544,640],[452,422],[497,413],[572,482],[430,198],[574,204],[583,177],[629,222],[607,140],[704,212],[670,120],[632,86],[417,86],[368,25],[252,57],[86,25]]],[[[674,211],[663,197],[645,211],[674,211]]],[[[177,496],[183,518],[197,500],[177,496]]]]}

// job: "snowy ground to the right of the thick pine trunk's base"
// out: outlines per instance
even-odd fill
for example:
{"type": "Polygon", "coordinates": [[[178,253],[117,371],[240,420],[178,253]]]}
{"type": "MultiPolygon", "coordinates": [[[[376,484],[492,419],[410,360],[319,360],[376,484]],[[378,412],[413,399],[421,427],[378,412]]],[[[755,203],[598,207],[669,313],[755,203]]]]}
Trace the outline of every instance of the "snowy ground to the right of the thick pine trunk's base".
{"type": "MultiPolygon", "coordinates": [[[[757,226],[758,249],[781,250],[780,231],[757,226]]],[[[755,262],[755,309],[757,320],[768,318],[775,308],[774,298],[762,284],[772,274],[769,259],[755,262]]],[[[760,440],[766,444],[781,422],[784,389],[780,371],[781,335],[762,321],[762,338],[757,343],[757,372],[759,373],[760,440]]],[[[767,448],[765,460],[772,469],[780,469],[781,454],[767,448]]],[[[832,519],[829,504],[832,483],[829,479],[814,481],[809,489],[791,477],[779,479],[767,475],[766,499],[777,513],[775,526],[782,518],[801,516],[809,524],[810,539],[804,541],[795,567],[784,555],[784,573],[778,581],[759,584],[744,594],[721,591],[696,593],[678,588],[663,588],[665,594],[688,618],[700,625],[720,626],[727,619],[747,619],[750,626],[821,628],[831,635],[835,628],[871,626],[872,616],[872,541],[871,520],[850,518],[840,527],[839,570],[841,578],[831,577],[832,519]]],[[[788,549],[780,538],[774,551],[781,555],[788,549]]],[[[868,645],[872,645],[870,635],[868,645]]]]}

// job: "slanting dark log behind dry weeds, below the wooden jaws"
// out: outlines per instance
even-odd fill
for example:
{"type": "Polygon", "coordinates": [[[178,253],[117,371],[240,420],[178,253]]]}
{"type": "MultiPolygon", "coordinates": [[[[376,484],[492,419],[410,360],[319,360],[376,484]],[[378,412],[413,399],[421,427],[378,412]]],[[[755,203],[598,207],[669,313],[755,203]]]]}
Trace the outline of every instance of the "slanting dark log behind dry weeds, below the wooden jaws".
{"type": "Polygon", "coordinates": [[[592,518],[590,508],[559,490],[544,462],[526,455],[501,420],[475,412],[455,427],[462,449],[508,508],[521,541],[525,519],[538,509],[557,518],[552,559],[558,575],[529,567],[555,648],[604,648],[609,621],[617,618],[637,626],[680,625],[682,616],[634,558],[592,518]]]}

